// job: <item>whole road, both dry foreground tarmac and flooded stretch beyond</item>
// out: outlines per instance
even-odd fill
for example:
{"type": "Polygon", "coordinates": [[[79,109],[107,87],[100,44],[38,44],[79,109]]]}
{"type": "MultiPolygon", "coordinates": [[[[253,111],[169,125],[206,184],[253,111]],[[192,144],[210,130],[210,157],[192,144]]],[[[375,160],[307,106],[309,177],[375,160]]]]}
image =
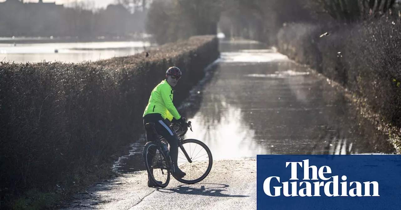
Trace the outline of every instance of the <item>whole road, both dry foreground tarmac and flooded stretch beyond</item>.
{"type": "Polygon", "coordinates": [[[257,154],[393,151],[323,77],[266,48],[222,42],[221,58],[179,108],[192,121],[185,137],[212,151],[205,180],[148,188],[142,138],[115,164],[122,176],[77,195],[69,209],[256,209],[257,154]]]}

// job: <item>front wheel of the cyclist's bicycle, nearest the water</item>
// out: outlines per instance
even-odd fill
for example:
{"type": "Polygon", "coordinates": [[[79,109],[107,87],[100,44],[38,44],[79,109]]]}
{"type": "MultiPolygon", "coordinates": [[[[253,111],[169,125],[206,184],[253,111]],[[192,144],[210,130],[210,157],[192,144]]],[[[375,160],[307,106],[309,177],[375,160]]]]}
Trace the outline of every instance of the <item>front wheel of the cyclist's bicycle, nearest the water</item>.
{"type": "Polygon", "coordinates": [[[186,173],[183,178],[174,178],[185,184],[195,184],[206,178],[212,169],[213,157],[207,145],[196,139],[186,139],[178,148],[178,167],[186,173]],[[185,155],[187,154],[187,156],[185,155]]]}

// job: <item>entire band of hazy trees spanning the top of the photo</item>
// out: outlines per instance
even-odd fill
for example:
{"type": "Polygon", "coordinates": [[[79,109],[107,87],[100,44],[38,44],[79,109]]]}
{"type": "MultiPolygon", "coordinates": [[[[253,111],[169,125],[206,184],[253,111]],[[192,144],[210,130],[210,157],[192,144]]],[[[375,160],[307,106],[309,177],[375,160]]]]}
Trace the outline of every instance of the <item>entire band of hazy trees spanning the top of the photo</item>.
{"type": "Polygon", "coordinates": [[[115,0],[105,9],[75,2],[57,11],[14,5],[0,7],[0,36],[148,32],[162,44],[220,30],[226,36],[269,41],[288,22],[352,23],[396,14],[397,8],[397,0],[115,0]]]}

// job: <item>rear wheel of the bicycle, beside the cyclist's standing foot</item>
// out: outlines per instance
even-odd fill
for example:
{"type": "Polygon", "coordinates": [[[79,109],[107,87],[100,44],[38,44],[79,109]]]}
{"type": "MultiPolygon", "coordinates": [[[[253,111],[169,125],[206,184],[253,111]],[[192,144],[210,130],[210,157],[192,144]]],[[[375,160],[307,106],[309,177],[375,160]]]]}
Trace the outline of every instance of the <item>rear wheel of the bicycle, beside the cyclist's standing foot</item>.
{"type": "Polygon", "coordinates": [[[154,142],[145,144],[143,155],[149,178],[159,187],[165,188],[170,182],[170,170],[166,155],[159,150],[154,142]],[[152,160],[152,159],[153,160],[152,160]],[[150,165],[148,164],[148,160],[150,165]]]}

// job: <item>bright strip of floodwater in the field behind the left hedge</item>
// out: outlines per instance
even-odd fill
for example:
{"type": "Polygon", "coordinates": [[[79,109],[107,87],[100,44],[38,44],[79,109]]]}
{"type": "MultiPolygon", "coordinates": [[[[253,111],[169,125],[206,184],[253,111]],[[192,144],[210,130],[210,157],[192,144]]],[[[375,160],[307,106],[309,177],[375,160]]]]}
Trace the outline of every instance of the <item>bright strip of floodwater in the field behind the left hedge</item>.
{"type": "Polygon", "coordinates": [[[96,61],[143,52],[149,42],[70,42],[70,43],[0,43],[0,61],[5,62],[83,62],[96,61]],[[57,50],[57,53],[55,53],[57,50]]]}

